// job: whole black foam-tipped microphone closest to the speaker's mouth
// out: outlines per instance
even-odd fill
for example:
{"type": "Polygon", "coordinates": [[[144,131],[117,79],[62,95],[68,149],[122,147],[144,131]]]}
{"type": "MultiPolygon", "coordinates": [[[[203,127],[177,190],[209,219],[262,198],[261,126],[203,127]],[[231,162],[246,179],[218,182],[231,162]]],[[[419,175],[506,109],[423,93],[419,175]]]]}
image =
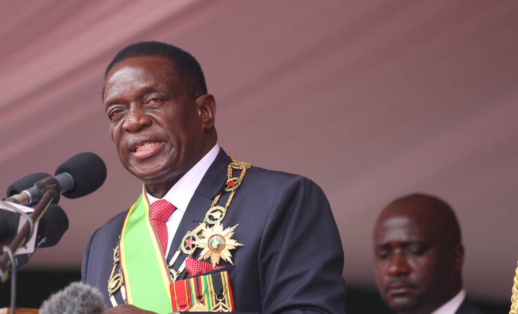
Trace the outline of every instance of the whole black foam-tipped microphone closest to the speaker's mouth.
{"type": "MultiPolygon", "coordinates": [[[[106,166],[101,157],[89,152],[80,153],[61,164],[54,177],[41,179],[31,188],[11,195],[6,201],[22,205],[34,204],[41,199],[48,188],[59,191],[65,197],[75,199],[97,190],[105,179],[106,166]]],[[[58,200],[59,194],[55,195],[53,202],[57,203],[58,200]]]]}

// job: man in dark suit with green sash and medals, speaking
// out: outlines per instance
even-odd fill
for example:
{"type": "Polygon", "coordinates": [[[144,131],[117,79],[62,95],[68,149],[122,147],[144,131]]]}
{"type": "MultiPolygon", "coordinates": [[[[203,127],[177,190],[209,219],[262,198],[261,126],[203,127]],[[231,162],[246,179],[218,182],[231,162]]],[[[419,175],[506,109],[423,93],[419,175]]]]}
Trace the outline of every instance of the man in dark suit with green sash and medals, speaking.
{"type": "Polygon", "coordinates": [[[82,281],[104,293],[108,313],[215,311],[205,295],[218,286],[233,311],[345,313],[343,250],[323,191],[219,148],[215,100],[191,55],[128,46],[106,69],[103,98],[119,159],[144,183],[86,246],[82,281]],[[205,274],[209,288],[184,280],[205,274]],[[189,297],[175,307],[183,282],[189,297]]]}

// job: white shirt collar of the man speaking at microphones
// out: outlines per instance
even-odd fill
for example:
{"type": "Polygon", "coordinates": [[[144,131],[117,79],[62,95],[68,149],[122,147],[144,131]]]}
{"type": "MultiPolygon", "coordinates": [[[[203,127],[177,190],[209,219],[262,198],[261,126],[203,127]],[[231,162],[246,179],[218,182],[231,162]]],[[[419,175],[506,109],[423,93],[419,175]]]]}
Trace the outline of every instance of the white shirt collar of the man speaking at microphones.
{"type": "MultiPolygon", "coordinates": [[[[213,163],[216,156],[220,151],[220,146],[215,144],[214,147],[209,150],[209,153],[204,155],[197,164],[193,166],[193,168],[189,169],[176,183],[171,187],[171,189],[162,197],[167,202],[170,202],[174,206],[176,206],[176,210],[180,210],[180,212],[184,213],[187,205],[191,202],[191,198],[193,194],[198,188],[200,181],[202,181],[203,176],[209,170],[209,167],[213,163]]],[[[158,200],[153,195],[147,193],[146,195],[149,200],[149,204],[158,200]]]]}

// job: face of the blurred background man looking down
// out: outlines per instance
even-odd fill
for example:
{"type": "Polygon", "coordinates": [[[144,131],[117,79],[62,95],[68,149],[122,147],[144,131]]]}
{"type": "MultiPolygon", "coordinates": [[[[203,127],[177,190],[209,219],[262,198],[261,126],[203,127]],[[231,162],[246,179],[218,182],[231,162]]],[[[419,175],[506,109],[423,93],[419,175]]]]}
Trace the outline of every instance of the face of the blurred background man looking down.
{"type": "Polygon", "coordinates": [[[440,305],[448,291],[452,257],[441,243],[440,227],[420,216],[419,210],[412,212],[382,214],[378,219],[376,281],[383,300],[396,312],[427,313],[426,308],[440,305]]]}

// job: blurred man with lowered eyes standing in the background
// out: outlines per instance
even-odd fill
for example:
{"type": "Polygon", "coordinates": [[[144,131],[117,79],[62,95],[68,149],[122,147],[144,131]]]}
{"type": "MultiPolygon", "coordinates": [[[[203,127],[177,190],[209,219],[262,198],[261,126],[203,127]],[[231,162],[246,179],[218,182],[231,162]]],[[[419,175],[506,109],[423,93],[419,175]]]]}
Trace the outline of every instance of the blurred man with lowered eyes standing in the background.
{"type": "Polygon", "coordinates": [[[376,281],[398,314],[480,314],[462,286],[463,257],[457,218],[437,197],[401,197],[378,217],[376,281]]]}

